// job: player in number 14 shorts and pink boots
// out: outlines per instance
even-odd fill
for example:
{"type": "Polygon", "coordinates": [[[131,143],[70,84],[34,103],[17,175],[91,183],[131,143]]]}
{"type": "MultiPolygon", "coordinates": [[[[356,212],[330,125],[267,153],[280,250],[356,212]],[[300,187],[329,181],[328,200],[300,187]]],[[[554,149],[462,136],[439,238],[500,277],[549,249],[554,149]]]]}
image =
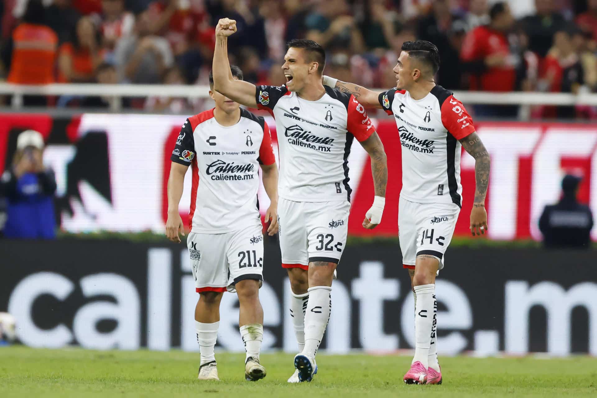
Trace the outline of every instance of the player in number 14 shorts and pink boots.
{"type": "Polygon", "coordinates": [[[444,268],[460,213],[460,148],[475,158],[476,191],[470,212],[473,236],[487,232],[485,195],[490,156],[475,132],[473,121],[450,91],[436,85],[438,48],[428,41],[402,44],[396,87],[374,92],[324,76],[324,84],[350,92],[365,107],[393,115],[402,144],[402,190],[398,229],[404,268],[415,297],[416,347],[408,384],[441,384],[437,356],[435,277],[444,268]]]}

